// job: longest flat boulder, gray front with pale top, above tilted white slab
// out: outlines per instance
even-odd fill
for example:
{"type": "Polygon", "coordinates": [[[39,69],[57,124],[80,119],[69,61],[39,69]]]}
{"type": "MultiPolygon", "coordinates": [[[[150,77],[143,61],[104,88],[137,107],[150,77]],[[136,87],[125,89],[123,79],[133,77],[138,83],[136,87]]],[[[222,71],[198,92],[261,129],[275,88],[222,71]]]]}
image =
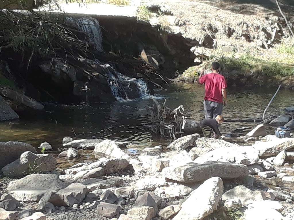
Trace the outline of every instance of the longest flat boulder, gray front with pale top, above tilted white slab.
{"type": "Polygon", "coordinates": [[[203,164],[187,163],[180,167],[167,167],[162,170],[166,178],[178,182],[193,183],[211,177],[232,179],[249,174],[246,165],[208,161],[203,164]]]}

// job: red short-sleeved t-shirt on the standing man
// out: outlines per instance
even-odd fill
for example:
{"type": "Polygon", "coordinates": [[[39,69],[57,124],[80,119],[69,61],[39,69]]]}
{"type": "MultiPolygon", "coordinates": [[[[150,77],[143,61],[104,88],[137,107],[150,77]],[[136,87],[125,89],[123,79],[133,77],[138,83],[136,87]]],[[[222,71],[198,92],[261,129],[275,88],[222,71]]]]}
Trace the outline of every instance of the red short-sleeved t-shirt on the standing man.
{"type": "Polygon", "coordinates": [[[203,75],[199,82],[205,83],[205,98],[204,100],[223,103],[223,94],[221,89],[227,88],[225,77],[217,73],[209,73],[203,75]]]}

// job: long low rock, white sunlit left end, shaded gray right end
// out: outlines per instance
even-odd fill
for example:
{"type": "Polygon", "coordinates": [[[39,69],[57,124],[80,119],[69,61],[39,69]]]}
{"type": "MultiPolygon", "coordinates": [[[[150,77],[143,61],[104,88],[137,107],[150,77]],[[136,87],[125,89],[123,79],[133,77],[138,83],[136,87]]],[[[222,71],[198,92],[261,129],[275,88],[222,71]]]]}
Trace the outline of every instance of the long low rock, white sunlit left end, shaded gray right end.
{"type": "Polygon", "coordinates": [[[126,169],[128,165],[129,165],[129,162],[126,159],[100,158],[96,162],[76,164],[72,166],[71,168],[64,170],[64,172],[68,175],[74,175],[82,170],[92,170],[94,168],[103,167],[104,174],[111,174],[111,173],[126,169]]]}

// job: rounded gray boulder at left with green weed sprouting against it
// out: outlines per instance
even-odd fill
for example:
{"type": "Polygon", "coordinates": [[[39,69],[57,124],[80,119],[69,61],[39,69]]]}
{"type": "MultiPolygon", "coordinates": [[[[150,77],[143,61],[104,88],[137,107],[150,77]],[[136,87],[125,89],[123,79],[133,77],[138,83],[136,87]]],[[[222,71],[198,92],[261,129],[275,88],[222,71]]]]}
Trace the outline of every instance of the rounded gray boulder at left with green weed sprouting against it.
{"type": "Polygon", "coordinates": [[[48,154],[35,154],[26,151],[20,158],[2,168],[8,177],[21,177],[31,172],[49,172],[55,170],[56,159],[48,154]]]}

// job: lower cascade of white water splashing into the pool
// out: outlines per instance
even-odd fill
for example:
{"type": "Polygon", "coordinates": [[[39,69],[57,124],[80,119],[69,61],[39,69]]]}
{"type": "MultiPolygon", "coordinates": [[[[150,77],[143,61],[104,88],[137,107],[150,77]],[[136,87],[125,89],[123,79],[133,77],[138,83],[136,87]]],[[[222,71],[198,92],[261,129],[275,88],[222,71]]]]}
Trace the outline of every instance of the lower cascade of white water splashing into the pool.
{"type": "Polygon", "coordinates": [[[105,70],[109,87],[117,101],[150,97],[148,86],[142,79],[127,77],[115,71],[109,64],[102,64],[99,60],[95,61],[105,70]]]}

